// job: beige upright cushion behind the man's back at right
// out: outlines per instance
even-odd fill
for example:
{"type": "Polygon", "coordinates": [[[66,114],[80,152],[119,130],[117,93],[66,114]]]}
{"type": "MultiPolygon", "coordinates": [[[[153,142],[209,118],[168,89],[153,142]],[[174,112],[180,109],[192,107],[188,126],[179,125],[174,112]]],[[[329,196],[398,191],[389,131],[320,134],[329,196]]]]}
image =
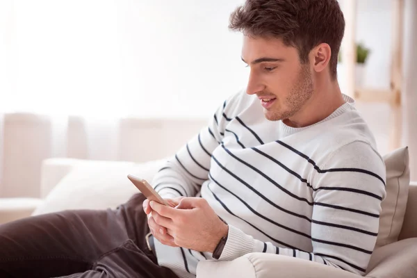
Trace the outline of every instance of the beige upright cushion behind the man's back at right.
{"type": "Polygon", "coordinates": [[[386,197],[382,201],[375,247],[394,243],[400,235],[410,182],[408,147],[402,147],[386,154],[384,162],[386,165],[386,197]]]}

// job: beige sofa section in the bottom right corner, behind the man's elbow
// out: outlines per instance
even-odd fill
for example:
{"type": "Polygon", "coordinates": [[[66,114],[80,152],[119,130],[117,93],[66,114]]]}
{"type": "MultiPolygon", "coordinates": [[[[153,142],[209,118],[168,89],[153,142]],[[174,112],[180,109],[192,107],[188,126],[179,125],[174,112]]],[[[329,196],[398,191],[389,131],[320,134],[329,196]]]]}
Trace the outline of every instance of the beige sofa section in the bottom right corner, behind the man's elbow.
{"type": "Polygon", "coordinates": [[[408,238],[373,252],[368,275],[374,278],[417,277],[417,238],[408,238]]]}

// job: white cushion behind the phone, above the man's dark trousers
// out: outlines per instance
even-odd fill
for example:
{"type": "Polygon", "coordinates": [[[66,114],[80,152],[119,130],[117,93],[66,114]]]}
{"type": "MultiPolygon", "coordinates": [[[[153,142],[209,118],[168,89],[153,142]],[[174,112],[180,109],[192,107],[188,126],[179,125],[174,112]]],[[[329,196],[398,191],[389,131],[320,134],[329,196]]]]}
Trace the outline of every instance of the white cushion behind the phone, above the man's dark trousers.
{"type": "Polygon", "coordinates": [[[67,209],[115,208],[139,192],[127,179],[128,174],[152,181],[164,162],[165,160],[138,164],[106,161],[77,163],[32,215],[67,209]]]}

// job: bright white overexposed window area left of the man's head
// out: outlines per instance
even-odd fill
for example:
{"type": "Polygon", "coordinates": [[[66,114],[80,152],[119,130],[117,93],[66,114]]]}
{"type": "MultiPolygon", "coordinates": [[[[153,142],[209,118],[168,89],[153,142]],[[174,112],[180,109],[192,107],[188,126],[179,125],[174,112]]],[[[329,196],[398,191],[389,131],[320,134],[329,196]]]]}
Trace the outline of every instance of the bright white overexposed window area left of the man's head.
{"type": "Polygon", "coordinates": [[[208,117],[245,85],[228,29],[242,2],[1,0],[12,84],[0,84],[0,111],[208,117]]]}

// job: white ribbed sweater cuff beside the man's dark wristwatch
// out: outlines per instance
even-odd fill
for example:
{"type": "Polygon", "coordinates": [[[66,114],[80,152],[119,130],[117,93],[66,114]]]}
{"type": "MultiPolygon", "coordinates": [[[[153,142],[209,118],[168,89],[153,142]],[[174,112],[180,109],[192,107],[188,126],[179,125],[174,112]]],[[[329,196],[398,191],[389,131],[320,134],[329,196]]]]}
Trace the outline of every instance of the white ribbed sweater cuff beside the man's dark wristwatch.
{"type": "Polygon", "coordinates": [[[240,231],[240,229],[229,224],[226,245],[222,251],[219,261],[232,261],[245,254],[252,253],[254,238],[240,231]]]}

